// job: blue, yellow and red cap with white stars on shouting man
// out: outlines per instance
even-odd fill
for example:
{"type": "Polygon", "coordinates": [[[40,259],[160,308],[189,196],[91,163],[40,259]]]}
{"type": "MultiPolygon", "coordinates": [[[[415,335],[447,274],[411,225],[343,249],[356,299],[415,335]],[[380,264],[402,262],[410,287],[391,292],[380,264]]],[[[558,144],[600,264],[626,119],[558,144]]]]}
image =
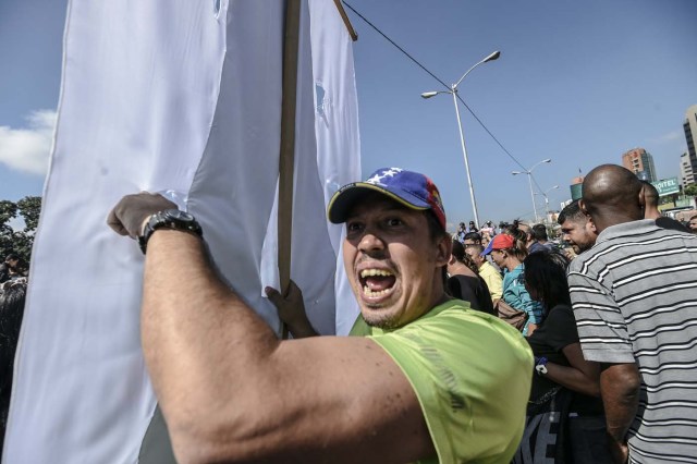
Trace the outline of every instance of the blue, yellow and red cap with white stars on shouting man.
{"type": "Polygon", "coordinates": [[[431,210],[445,230],[445,209],[438,187],[426,175],[401,168],[381,168],[364,182],[346,184],[329,200],[327,217],[339,224],[346,221],[351,208],[368,192],[379,192],[407,208],[431,210]]]}

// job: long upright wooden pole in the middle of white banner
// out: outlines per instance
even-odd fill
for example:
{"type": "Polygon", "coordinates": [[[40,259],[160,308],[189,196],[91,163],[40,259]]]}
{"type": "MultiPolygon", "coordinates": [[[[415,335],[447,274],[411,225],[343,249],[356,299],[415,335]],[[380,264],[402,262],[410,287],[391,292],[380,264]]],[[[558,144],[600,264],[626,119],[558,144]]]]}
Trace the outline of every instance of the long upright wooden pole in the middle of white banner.
{"type": "MultiPolygon", "coordinates": [[[[291,281],[291,239],[293,235],[293,173],[295,166],[295,107],[297,89],[297,54],[299,44],[301,0],[285,2],[283,39],[283,96],[281,98],[281,150],[279,157],[279,278],[281,294],[291,281]]],[[[281,337],[288,328],[281,321],[281,337]]]]}

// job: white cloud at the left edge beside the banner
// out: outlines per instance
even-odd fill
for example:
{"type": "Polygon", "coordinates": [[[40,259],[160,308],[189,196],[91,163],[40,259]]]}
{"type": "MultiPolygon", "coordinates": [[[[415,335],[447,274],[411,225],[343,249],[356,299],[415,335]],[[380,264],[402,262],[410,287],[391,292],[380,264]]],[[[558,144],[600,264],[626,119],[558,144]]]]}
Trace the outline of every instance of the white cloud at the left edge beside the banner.
{"type": "Polygon", "coordinates": [[[46,175],[57,113],[32,111],[27,129],[0,125],[0,162],[17,171],[46,175]]]}

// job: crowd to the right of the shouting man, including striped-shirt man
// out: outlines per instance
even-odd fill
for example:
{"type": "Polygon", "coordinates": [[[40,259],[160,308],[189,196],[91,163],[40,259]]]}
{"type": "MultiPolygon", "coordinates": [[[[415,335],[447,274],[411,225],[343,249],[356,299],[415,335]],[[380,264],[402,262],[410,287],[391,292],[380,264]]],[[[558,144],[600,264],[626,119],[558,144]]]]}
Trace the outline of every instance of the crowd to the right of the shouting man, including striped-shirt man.
{"type": "Polygon", "coordinates": [[[536,375],[513,462],[697,462],[697,217],[664,217],[650,183],[604,166],[558,222],[557,244],[542,224],[453,234],[528,313],[536,375]]]}

